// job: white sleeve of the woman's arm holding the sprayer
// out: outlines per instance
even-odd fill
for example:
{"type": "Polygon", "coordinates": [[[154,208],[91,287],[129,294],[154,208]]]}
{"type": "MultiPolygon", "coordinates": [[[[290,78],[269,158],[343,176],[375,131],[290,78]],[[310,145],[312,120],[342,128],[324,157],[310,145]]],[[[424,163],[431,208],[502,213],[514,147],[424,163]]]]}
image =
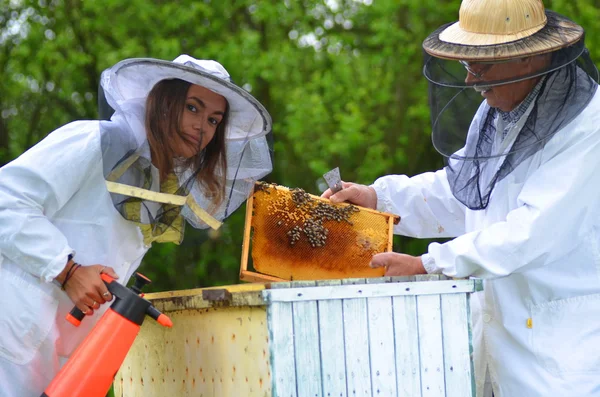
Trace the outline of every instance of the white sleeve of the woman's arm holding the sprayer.
{"type": "Polygon", "coordinates": [[[102,166],[97,126],[67,124],[0,168],[0,255],[46,282],[73,253],[49,218],[102,166]]]}

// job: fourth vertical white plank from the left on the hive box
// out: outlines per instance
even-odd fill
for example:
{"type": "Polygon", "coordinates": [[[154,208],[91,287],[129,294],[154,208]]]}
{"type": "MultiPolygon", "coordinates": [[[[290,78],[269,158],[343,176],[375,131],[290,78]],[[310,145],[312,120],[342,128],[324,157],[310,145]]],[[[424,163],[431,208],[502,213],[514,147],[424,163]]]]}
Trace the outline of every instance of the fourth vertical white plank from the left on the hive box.
{"type": "MultiPolygon", "coordinates": [[[[364,279],[342,280],[344,285],[364,284],[364,279]]],[[[371,397],[371,360],[369,357],[369,323],[367,300],[344,299],[344,349],[346,383],[349,397],[371,397]]]]}

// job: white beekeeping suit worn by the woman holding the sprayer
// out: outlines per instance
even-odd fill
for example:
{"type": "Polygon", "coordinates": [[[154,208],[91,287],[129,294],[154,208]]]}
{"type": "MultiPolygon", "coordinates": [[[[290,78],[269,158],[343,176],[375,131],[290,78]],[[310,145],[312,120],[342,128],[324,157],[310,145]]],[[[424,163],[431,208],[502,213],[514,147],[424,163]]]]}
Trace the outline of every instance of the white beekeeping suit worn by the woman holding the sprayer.
{"type": "Polygon", "coordinates": [[[100,123],[78,121],[0,169],[0,395],[39,396],[109,304],[79,328],[52,284],[69,254],[126,282],[148,250],[106,190],[100,123]]]}

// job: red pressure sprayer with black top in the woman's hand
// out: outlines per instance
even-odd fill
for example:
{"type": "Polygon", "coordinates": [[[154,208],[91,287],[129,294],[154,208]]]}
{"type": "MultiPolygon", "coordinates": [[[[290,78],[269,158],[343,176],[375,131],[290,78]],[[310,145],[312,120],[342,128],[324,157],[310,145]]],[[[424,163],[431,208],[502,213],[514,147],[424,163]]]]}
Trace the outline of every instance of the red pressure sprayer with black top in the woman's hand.
{"type": "MultiPolygon", "coordinates": [[[[146,315],[165,327],[171,319],[144,299],[141,289],[150,280],[135,274],[135,283],[127,288],[107,274],[101,274],[115,297],[98,324],[81,342],[41,397],[104,397],[144,322],[146,315]]],[[[74,307],[67,320],[79,326],[85,314],[74,307]]]]}

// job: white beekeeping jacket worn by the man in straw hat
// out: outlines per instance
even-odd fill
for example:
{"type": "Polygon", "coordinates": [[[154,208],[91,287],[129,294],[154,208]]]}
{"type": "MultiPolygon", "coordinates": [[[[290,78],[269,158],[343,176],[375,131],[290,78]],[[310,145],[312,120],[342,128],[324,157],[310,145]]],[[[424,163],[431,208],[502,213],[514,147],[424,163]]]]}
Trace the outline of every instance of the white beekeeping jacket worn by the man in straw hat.
{"type": "Polygon", "coordinates": [[[396,233],[456,237],[429,245],[428,272],[485,279],[471,299],[478,396],[486,369],[495,397],[600,396],[600,93],[485,210],[456,200],[444,170],[373,187],[396,233]]]}

